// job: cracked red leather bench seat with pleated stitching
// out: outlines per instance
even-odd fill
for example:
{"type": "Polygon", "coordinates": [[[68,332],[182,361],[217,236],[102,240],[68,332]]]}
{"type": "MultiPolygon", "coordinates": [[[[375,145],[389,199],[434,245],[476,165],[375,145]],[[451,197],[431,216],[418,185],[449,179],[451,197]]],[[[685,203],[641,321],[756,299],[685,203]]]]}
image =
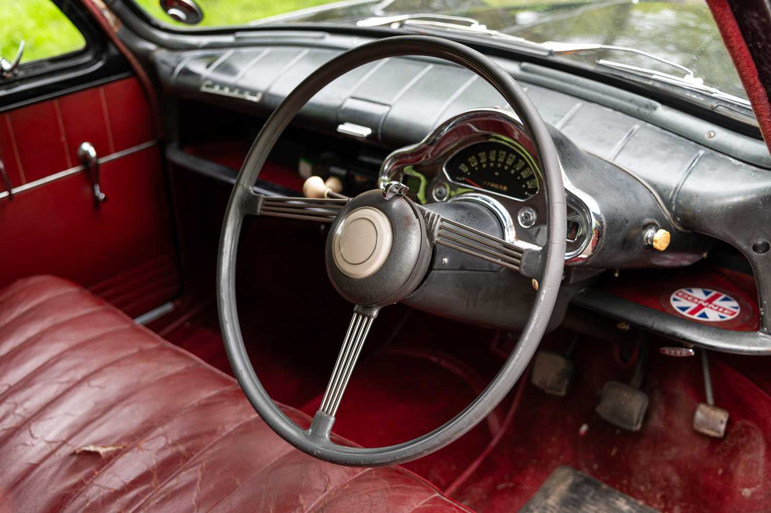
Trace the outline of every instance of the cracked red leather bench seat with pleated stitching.
{"type": "Polygon", "coordinates": [[[302,454],[230,376],[49,276],[0,292],[0,462],[0,511],[466,511],[302,454]]]}

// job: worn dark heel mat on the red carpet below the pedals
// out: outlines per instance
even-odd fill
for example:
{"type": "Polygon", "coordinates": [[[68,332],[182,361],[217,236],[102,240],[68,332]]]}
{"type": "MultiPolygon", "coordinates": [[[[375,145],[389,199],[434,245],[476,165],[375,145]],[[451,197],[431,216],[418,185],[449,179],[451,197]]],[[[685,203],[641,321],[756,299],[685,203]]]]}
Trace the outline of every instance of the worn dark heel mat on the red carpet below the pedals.
{"type": "Polygon", "coordinates": [[[656,513],[571,467],[557,467],[520,513],[656,513]]]}

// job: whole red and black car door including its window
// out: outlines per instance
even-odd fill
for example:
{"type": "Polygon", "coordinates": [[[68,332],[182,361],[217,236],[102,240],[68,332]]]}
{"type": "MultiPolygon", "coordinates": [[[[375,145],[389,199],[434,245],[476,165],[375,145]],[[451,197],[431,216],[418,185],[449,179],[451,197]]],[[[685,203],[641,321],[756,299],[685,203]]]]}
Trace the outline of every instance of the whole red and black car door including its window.
{"type": "Polygon", "coordinates": [[[173,299],[167,180],[129,63],[74,0],[0,3],[0,56],[0,287],[58,275],[130,316],[173,299]]]}

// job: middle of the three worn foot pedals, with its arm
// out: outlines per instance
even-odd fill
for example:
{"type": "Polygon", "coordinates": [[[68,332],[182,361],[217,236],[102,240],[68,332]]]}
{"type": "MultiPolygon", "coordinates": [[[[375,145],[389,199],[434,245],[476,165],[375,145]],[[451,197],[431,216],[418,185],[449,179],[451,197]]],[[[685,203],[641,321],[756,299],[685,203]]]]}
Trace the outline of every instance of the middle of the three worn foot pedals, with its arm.
{"type": "Polygon", "coordinates": [[[595,408],[604,420],[629,431],[641,429],[650,402],[648,394],[640,388],[648,363],[648,344],[641,342],[638,348],[640,353],[630,383],[606,382],[600,392],[600,402],[595,408]]]}

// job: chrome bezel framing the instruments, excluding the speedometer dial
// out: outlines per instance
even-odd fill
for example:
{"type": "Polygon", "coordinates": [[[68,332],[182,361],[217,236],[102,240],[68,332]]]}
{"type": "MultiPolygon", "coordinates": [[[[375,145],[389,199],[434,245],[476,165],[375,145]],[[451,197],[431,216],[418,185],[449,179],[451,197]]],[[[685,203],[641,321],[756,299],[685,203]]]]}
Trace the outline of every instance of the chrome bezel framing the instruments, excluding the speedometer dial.
{"type": "MultiPolygon", "coordinates": [[[[494,197],[495,204],[500,205],[506,214],[502,216],[496,208],[490,207],[490,204],[487,206],[501,219],[504,231],[507,230],[506,219],[512,220],[510,230],[513,233],[508,232],[507,239],[511,237],[520,244],[524,242],[534,247],[541,246],[539,244],[540,239],[545,240],[545,226],[542,221],[537,222],[533,228],[520,230],[517,230],[517,226],[513,222],[517,212],[525,206],[534,208],[537,218],[545,220],[546,202],[543,194],[540,194],[540,189],[543,187],[543,177],[540,174],[540,164],[535,147],[519,118],[512,111],[498,107],[494,109],[481,108],[467,110],[449,118],[419,143],[403,147],[389,154],[380,168],[379,187],[383,187],[389,181],[402,181],[403,170],[406,167],[421,164],[436,170],[436,173],[427,177],[429,180],[425,191],[426,203],[436,201],[432,192],[438,186],[448,188],[449,194],[447,194],[445,201],[457,201],[457,198],[470,194],[475,195],[476,201],[480,201],[480,196],[494,197]],[[525,199],[518,199],[478,187],[460,185],[449,179],[449,174],[446,173],[446,163],[450,158],[472,144],[491,139],[499,142],[503,142],[501,139],[513,140],[533,157],[537,164],[534,173],[539,181],[539,192],[525,199]]],[[[575,187],[565,174],[564,168],[562,177],[569,207],[568,220],[571,218],[578,220],[580,227],[577,240],[567,241],[565,263],[567,265],[586,264],[601,245],[604,218],[594,198],[575,187]]]]}

